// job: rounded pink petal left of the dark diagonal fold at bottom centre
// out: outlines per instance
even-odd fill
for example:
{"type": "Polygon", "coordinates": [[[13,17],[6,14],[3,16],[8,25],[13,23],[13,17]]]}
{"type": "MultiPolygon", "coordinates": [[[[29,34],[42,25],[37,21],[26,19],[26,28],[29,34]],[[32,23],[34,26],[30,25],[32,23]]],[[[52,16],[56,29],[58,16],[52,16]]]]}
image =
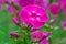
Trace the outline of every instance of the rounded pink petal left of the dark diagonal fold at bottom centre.
{"type": "Polygon", "coordinates": [[[42,31],[34,31],[31,33],[31,40],[41,40],[44,36],[42,31]]]}

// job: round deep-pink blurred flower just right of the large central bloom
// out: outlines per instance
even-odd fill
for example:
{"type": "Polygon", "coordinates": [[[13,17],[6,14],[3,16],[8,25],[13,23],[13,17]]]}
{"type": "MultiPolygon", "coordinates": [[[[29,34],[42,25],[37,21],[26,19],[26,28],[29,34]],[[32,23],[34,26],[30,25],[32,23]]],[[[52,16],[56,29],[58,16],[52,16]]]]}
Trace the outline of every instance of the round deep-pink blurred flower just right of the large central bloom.
{"type": "Polygon", "coordinates": [[[52,3],[50,7],[50,11],[52,15],[59,15],[59,12],[61,12],[59,4],[57,2],[52,3]]]}

